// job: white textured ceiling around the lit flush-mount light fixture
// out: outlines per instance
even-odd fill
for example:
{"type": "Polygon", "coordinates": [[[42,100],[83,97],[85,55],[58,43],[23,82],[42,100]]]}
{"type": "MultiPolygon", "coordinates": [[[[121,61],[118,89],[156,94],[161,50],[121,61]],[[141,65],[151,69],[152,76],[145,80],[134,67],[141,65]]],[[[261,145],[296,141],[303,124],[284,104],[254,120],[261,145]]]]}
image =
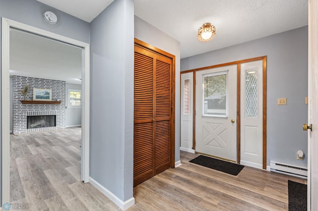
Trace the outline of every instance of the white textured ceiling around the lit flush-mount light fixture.
{"type": "Polygon", "coordinates": [[[308,25],[308,0],[135,0],[135,15],[178,40],[181,58],[308,25]],[[203,23],[216,27],[197,40],[203,23]]]}

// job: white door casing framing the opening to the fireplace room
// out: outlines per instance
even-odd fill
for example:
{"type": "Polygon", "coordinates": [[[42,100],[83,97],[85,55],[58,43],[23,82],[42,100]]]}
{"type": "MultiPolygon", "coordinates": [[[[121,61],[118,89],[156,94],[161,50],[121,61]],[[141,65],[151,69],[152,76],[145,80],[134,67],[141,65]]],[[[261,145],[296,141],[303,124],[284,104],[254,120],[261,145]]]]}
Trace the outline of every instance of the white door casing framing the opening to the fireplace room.
{"type": "MultiPolygon", "coordinates": [[[[54,42],[63,43],[64,45],[74,46],[80,49],[81,53],[81,166],[80,180],[83,182],[89,181],[89,44],[83,43],[74,39],[70,39],[58,34],[44,31],[35,27],[28,26],[16,21],[2,18],[2,33],[1,33],[1,50],[2,50],[2,66],[1,66],[1,100],[2,103],[2,203],[10,202],[10,33],[12,30],[20,30],[23,33],[30,33],[36,36],[44,37],[54,42]]],[[[36,45],[34,43],[33,45],[36,45]]],[[[32,53],[32,52],[30,52],[32,53]]],[[[24,76],[22,76],[24,77],[24,76]]],[[[62,94],[63,95],[63,94],[62,94]]],[[[64,96],[66,92],[64,93],[64,96]]],[[[62,99],[52,99],[55,102],[62,102],[62,99]]],[[[34,106],[37,107],[37,106],[34,106]]],[[[41,107],[41,106],[38,106],[41,107]]],[[[58,115],[58,112],[57,112],[58,115]]],[[[57,117],[57,121],[58,121],[57,117]]],[[[26,119],[26,118],[25,118],[26,119]]],[[[25,121],[26,123],[26,121],[25,121]]],[[[57,124],[56,127],[58,127],[57,124]]]]}

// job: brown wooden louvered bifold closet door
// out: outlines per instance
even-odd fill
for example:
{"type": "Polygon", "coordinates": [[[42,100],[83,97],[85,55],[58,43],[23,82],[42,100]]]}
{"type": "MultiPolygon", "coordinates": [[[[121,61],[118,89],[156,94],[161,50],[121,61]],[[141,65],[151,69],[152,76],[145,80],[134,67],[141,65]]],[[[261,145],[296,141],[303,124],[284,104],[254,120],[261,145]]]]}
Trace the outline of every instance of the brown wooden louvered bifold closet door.
{"type": "Polygon", "coordinates": [[[171,58],[135,45],[134,186],[171,167],[171,58]]]}

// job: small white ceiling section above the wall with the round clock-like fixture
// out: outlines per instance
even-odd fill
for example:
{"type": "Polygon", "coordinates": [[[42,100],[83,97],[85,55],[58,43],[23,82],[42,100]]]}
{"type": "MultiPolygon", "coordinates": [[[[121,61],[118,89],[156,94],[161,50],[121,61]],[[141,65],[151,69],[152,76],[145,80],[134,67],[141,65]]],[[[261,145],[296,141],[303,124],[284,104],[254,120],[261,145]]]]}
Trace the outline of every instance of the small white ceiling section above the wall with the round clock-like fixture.
{"type": "Polygon", "coordinates": [[[37,0],[90,23],[114,0],[37,0]]]}

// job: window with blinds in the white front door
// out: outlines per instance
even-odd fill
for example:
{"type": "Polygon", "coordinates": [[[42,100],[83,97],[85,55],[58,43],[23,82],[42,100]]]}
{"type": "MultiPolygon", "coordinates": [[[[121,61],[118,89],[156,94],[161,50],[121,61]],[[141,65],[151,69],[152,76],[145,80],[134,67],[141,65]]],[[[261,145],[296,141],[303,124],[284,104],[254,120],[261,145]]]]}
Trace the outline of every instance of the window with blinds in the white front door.
{"type": "Polygon", "coordinates": [[[203,75],[203,115],[227,117],[228,71],[203,75]]]}

